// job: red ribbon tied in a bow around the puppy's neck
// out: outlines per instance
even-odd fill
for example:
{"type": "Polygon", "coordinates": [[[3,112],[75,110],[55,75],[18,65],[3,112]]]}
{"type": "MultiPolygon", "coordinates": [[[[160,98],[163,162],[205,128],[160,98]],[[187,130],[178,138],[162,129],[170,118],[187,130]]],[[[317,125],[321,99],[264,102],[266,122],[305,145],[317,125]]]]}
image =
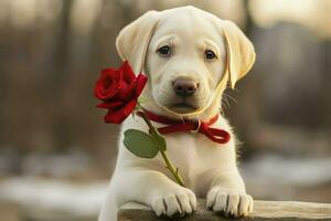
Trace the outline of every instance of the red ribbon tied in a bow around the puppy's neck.
{"type": "MultiPolygon", "coordinates": [[[[159,133],[162,135],[174,131],[197,131],[218,144],[226,144],[229,140],[229,134],[227,131],[224,129],[210,127],[218,119],[218,114],[205,123],[201,122],[200,119],[171,119],[164,116],[156,115],[146,109],[143,112],[150,120],[167,125],[158,128],[159,133]]],[[[141,116],[142,113],[138,112],[137,115],[141,116]]]]}

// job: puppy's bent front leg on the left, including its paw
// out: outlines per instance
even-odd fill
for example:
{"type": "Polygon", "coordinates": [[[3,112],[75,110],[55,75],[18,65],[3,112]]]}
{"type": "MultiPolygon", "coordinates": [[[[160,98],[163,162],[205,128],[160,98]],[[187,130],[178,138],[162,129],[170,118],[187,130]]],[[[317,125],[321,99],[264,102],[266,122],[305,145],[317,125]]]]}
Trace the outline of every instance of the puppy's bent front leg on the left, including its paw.
{"type": "Polygon", "coordinates": [[[116,177],[115,189],[117,201],[145,203],[153,209],[157,215],[175,213],[185,214],[196,210],[195,194],[154,170],[129,170],[116,177]]]}

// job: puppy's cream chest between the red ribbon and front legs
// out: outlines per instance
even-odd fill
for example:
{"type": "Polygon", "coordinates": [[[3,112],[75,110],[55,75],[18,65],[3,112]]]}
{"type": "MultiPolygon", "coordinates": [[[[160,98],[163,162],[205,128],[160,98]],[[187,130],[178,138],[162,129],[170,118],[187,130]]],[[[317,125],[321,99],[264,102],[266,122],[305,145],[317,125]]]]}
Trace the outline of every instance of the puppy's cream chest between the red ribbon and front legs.
{"type": "Polygon", "coordinates": [[[191,187],[200,186],[205,172],[225,169],[235,160],[229,147],[212,143],[199,134],[167,136],[167,146],[169,158],[191,187]]]}

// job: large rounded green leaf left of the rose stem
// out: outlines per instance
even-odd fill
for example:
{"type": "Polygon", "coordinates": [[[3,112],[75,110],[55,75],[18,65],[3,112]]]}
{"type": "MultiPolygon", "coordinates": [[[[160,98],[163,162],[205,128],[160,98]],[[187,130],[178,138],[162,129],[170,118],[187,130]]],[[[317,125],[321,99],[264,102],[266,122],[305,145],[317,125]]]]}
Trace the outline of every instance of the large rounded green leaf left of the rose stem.
{"type": "Polygon", "coordinates": [[[138,129],[126,130],[124,144],[127,149],[137,157],[151,159],[159,152],[159,149],[152,137],[138,129]]]}

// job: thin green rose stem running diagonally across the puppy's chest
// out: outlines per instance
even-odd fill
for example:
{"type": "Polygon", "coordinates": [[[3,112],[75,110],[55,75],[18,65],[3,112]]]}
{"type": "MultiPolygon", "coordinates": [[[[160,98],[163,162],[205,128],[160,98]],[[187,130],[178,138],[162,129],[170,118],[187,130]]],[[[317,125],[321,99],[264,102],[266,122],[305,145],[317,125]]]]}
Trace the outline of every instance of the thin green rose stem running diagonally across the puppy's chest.
{"type": "MultiPolygon", "coordinates": [[[[157,129],[153,127],[153,125],[151,124],[151,122],[149,120],[149,118],[147,117],[146,113],[143,112],[143,108],[141,107],[141,105],[138,103],[139,108],[142,109],[141,112],[141,117],[142,119],[146,122],[146,124],[148,125],[149,129],[151,131],[154,131],[154,134],[159,135],[159,131],[157,131],[157,129]]],[[[169,169],[169,171],[173,175],[173,177],[175,178],[177,182],[182,186],[185,187],[184,181],[181,177],[181,175],[179,173],[179,168],[174,168],[173,165],[171,164],[171,161],[169,160],[166,150],[160,150],[162,158],[166,162],[166,168],[169,169]]]]}

